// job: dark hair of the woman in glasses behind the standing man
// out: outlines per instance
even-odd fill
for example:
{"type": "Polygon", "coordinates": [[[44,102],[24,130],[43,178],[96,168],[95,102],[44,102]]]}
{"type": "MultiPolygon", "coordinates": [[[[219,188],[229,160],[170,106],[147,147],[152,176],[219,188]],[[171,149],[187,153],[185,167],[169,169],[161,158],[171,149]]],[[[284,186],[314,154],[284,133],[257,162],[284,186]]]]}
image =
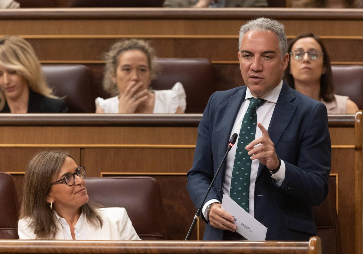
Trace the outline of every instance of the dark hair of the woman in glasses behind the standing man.
{"type": "MultiPolygon", "coordinates": [[[[333,101],[334,100],[333,74],[331,73],[330,58],[322,40],[313,33],[302,33],[296,36],[294,40],[290,41],[288,51],[291,52],[291,48],[293,47],[293,45],[297,40],[306,37],[314,38],[314,40],[317,41],[321,46],[322,51],[324,53],[323,60],[324,60],[325,73],[322,74],[320,77],[320,98],[322,98],[326,102],[333,101]]],[[[295,89],[294,77],[293,75],[290,74],[290,61],[291,57],[284,73],[284,79],[291,88],[295,89]]]]}

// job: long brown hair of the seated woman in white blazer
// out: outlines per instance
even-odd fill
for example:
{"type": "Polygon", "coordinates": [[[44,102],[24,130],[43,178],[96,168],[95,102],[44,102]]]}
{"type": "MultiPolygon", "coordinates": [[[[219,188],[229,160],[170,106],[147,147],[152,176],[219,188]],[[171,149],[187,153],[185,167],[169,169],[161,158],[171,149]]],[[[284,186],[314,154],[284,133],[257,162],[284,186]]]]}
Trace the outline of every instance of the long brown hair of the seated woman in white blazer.
{"type": "MultiPolygon", "coordinates": [[[[34,155],[26,167],[20,219],[25,218],[37,239],[56,237],[56,215],[50,210],[46,198],[52,177],[59,173],[67,156],[74,160],[66,151],[43,151],[34,155]]],[[[102,217],[95,208],[90,203],[81,206],[86,220],[96,228],[102,227],[102,217]]]]}

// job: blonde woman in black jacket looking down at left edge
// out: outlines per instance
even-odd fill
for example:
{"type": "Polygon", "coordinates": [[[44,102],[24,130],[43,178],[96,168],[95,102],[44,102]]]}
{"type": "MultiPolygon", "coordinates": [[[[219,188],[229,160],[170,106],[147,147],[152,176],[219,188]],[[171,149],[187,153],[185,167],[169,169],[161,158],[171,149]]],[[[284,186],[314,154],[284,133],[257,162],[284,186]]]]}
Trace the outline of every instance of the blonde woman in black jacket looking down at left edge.
{"type": "Polygon", "coordinates": [[[0,38],[0,112],[68,112],[47,86],[32,46],[18,36],[0,38]]]}

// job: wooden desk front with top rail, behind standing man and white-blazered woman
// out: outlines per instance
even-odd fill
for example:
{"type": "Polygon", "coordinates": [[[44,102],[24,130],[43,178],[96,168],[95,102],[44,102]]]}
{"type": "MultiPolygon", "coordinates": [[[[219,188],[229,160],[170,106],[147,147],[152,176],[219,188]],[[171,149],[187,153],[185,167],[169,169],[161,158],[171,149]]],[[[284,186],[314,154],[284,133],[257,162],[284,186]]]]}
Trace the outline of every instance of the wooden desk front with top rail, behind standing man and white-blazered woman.
{"type": "MultiPolygon", "coordinates": [[[[184,239],[195,213],[185,189],[200,114],[0,115],[0,171],[11,172],[21,196],[24,169],[42,149],[67,149],[87,176],[147,175],[161,186],[167,236],[184,239]],[[140,156],[143,155],[143,156],[140,156]],[[181,205],[173,195],[183,200],[181,205]],[[178,216],[180,223],[174,224],[178,216]]],[[[329,115],[331,177],[337,184],[337,209],[343,253],[362,250],[362,112],[329,115]]],[[[204,222],[191,239],[203,237],[204,222]]]]}

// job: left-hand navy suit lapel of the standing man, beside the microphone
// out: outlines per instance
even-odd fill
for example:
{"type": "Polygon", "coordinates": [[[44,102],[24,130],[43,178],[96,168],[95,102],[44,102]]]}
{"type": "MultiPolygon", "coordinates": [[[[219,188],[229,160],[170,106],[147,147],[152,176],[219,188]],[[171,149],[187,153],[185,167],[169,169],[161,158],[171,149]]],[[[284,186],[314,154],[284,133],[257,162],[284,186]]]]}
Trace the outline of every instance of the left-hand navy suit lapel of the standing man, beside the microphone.
{"type": "MultiPolygon", "coordinates": [[[[234,121],[236,120],[236,116],[240,110],[242,102],[245,99],[245,96],[246,86],[243,86],[240,90],[237,91],[236,94],[229,98],[227,107],[224,111],[223,119],[221,120],[221,131],[218,137],[218,161],[222,161],[223,156],[225,155],[234,121]]],[[[222,168],[223,173],[219,174],[220,176],[224,176],[224,170],[225,163],[222,168]]],[[[223,177],[221,177],[221,179],[223,179],[223,177]]]]}

